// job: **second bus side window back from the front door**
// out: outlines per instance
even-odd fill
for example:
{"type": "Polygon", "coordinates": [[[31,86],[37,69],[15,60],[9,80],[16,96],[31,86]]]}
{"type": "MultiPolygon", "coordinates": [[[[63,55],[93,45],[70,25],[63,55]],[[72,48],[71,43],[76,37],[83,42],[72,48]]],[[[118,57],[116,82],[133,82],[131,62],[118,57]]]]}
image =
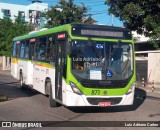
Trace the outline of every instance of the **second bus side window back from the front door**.
{"type": "Polygon", "coordinates": [[[46,58],[46,43],[47,43],[47,38],[46,37],[41,37],[39,38],[39,44],[38,44],[38,60],[45,60],[46,58]]]}

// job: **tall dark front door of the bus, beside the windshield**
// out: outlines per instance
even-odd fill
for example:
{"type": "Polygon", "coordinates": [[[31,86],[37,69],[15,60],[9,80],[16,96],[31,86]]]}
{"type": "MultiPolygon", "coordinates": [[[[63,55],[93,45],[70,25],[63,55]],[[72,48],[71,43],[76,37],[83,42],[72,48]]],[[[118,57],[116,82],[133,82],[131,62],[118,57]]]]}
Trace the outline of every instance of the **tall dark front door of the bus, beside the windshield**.
{"type": "Polygon", "coordinates": [[[58,34],[56,43],[55,98],[62,100],[62,77],[65,68],[65,34],[58,34]]]}

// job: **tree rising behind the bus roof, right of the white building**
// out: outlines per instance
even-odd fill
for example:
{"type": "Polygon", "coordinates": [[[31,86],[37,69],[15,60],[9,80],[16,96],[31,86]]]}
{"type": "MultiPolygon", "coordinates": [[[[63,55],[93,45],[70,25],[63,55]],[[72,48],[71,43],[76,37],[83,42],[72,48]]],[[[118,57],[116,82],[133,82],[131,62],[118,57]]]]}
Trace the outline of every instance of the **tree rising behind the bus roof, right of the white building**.
{"type": "MultiPolygon", "coordinates": [[[[60,0],[58,5],[52,6],[46,12],[47,26],[54,27],[68,23],[88,23],[84,20],[88,19],[87,10],[84,4],[82,6],[74,4],[74,0],[69,0],[68,2],[60,0]]],[[[95,22],[95,20],[91,21],[91,16],[88,21],[89,23],[95,22]]]]}

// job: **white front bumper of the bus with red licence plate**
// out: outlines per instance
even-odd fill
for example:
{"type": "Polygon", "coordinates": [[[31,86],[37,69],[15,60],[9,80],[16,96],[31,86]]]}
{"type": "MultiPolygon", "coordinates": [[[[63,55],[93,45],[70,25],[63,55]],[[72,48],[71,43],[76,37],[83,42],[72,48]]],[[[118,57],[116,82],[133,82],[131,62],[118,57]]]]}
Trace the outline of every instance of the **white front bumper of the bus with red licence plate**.
{"type": "Polygon", "coordinates": [[[71,91],[65,91],[63,104],[66,106],[121,106],[132,105],[134,91],[122,96],[85,96],[71,91]]]}

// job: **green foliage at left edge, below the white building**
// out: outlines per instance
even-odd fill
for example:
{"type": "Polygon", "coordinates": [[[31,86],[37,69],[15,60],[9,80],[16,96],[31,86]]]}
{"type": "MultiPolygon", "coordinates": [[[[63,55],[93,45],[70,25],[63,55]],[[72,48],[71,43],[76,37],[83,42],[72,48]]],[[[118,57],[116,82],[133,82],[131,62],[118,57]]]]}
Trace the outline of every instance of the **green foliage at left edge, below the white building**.
{"type": "Polygon", "coordinates": [[[30,25],[18,16],[15,22],[9,18],[0,19],[0,56],[11,56],[12,39],[30,31],[30,25]]]}

